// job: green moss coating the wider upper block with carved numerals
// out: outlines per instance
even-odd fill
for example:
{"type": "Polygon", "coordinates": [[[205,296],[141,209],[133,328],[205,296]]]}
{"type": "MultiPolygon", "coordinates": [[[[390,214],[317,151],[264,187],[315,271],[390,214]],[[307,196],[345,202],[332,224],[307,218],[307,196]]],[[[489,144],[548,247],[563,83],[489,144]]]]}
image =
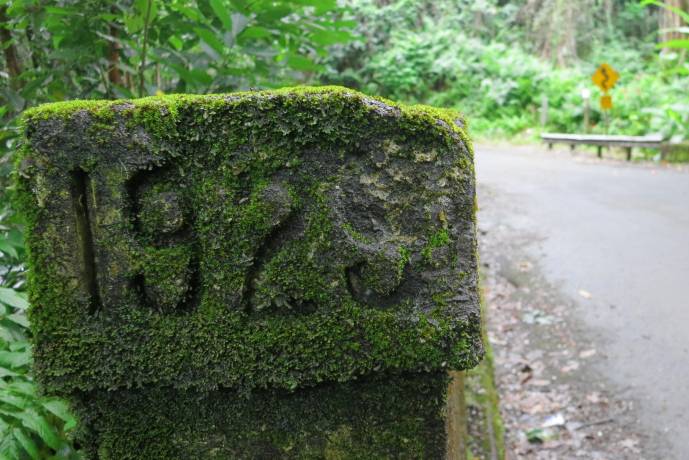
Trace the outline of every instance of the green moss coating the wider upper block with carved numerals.
{"type": "MultiPolygon", "coordinates": [[[[322,179],[315,179],[313,173],[298,174],[308,170],[308,163],[295,154],[295,149],[320,146],[323,155],[330,155],[327,152],[331,151],[339,157],[343,146],[359,148],[356,142],[366,132],[369,137],[371,133],[385,133],[386,145],[397,146],[393,152],[396,157],[413,158],[422,146],[430,146],[442,155],[450,151],[458,155],[454,149],[458,139],[464,139],[464,133],[452,122],[456,117],[450,112],[403,107],[340,88],[296,88],[227,96],[164,96],[137,101],[77,101],[28,111],[25,121],[32,133],[46,129],[48,136],[56,136],[53,128],[42,128],[43,123],[61,123],[59,132],[63,134],[59,135],[67,136],[62,142],[66,164],[79,164],[85,170],[97,171],[106,168],[104,164],[110,161],[111,151],[123,148],[148,151],[142,156],[151,165],[147,167],[175,164],[171,169],[168,167],[171,175],[168,182],[154,181],[152,185],[141,186],[138,206],[142,239],[137,244],[147,249],[138,270],[144,279],[144,291],[149,298],[157,299],[154,310],[173,311],[177,308],[175,299],[188,298],[189,279],[196,276],[194,270],[200,273],[199,289],[205,293],[198,299],[198,306],[191,307],[189,318],[151,316],[150,310],[131,308],[129,304],[134,299],[122,298],[121,307],[105,312],[110,318],[107,323],[84,322],[85,297],[74,298],[73,285],[65,282],[69,273],[54,269],[56,265],[52,262],[55,254],[69,252],[70,243],[64,241],[58,228],[46,226],[62,212],[57,202],[47,204],[49,199],[35,195],[40,181],[52,173],[40,163],[45,161],[41,159],[43,153],[32,145],[36,141],[40,143],[42,138],[34,135],[22,154],[25,160],[20,158],[23,176],[19,189],[22,208],[29,216],[32,265],[41,267],[35,270],[31,288],[32,299],[44,305],[32,312],[39,336],[36,348],[39,378],[51,391],[61,392],[72,388],[128,386],[132,381],[166,382],[179,387],[269,384],[290,387],[295,381],[348,379],[381,365],[410,370],[441,362],[449,362],[456,368],[471,366],[478,358],[475,341],[468,340],[466,348],[454,345],[464,343],[457,339],[448,341],[448,334],[457,338],[475,337],[471,321],[444,317],[437,327],[417,331],[403,319],[407,315],[403,310],[410,307],[400,307],[402,310],[395,312],[361,305],[348,299],[345,293],[346,267],[330,266],[323,272],[319,257],[328,254],[337,229],[331,228],[331,216],[326,212],[327,193],[319,188],[322,179]],[[381,105],[376,105],[378,102],[381,105]],[[394,113],[381,116],[376,112],[381,110],[394,113]],[[128,144],[120,146],[113,143],[121,142],[116,140],[102,145],[102,139],[114,136],[112,130],[104,129],[98,136],[87,131],[91,134],[83,137],[83,130],[78,126],[83,122],[84,112],[94,117],[88,123],[95,124],[88,126],[95,126],[95,131],[100,130],[104,120],[121,126],[125,132],[131,130],[124,138],[128,144]],[[305,130],[306,126],[318,126],[318,129],[305,130]],[[69,137],[70,130],[74,131],[74,138],[69,137]],[[97,138],[101,156],[83,149],[82,144],[91,145],[92,138],[97,138]],[[451,147],[447,147],[448,142],[451,147]],[[232,161],[227,161],[228,158],[232,161]],[[295,179],[284,186],[274,184],[270,177],[280,170],[295,179]],[[281,192],[281,187],[286,192],[281,192]],[[310,192],[303,194],[304,190],[310,192]],[[270,238],[272,229],[283,220],[301,212],[308,216],[304,234],[290,237],[280,248],[269,248],[270,260],[262,264],[253,281],[247,282],[245,271],[254,263],[253,254],[262,250],[261,241],[270,238]],[[188,215],[192,215],[193,224],[185,220],[188,215]],[[198,243],[166,248],[165,241],[177,241],[178,232],[185,231],[184,228],[197,235],[198,243]],[[163,246],[158,248],[160,244],[163,246]],[[192,267],[189,254],[192,250],[201,254],[198,269],[192,267]],[[251,294],[251,305],[227,297],[224,293],[228,291],[251,294]],[[314,308],[319,311],[305,317],[266,316],[260,322],[247,322],[247,308],[285,313],[314,308]],[[348,319],[334,323],[333,317],[348,319]],[[385,340],[377,340],[378,331],[384,331],[385,340]],[[144,336],[147,337],[145,345],[141,341],[144,336]],[[111,345],[100,349],[99,343],[104,340],[111,345]],[[68,345],[58,353],[47,346],[63,342],[68,345]],[[142,345],[131,345],[139,343],[142,345]],[[227,343],[236,346],[228,348],[227,343]],[[303,347],[305,343],[309,344],[308,348],[303,347]],[[236,354],[242,349],[251,350],[250,359],[236,354]],[[295,349],[300,350],[301,366],[308,369],[296,378],[291,371],[294,353],[290,351],[295,349]],[[270,370],[265,369],[261,361],[275,355],[278,358],[272,358],[270,370]],[[140,362],[145,365],[133,367],[140,362]],[[319,365],[323,362],[333,365],[319,365]],[[91,377],[94,372],[99,376],[97,379],[91,377]]],[[[461,154],[459,157],[464,158],[461,154]]],[[[122,161],[113,157],[111,171],[122,171],[119,166],[122,161]]],[[[124,176],[118,172],[109,182],[123,180],[124,176]]],[[[465,179],[472,178],[456,178],[465,179]]],[[[60,180],[51,186],[68,186],[60,180]]],[[[122,192],[118,191],[112,199],[123,199],[120,195],[122,192]]],[[[103,216],[111,216],[107,217],[108,221],[114,224],[121,221],[119,211],[107,211],[107,200],[97,204],[103,216]]],[[[404,218],[404,214],[391,217],[400,221],[404,218]]],[[[56,225],[59,222],[55,219],[56,225]]],[[[435,224],[428,225],[432,228],[435,224]]],[[[132,241],[126,237],[128,226],[124,222],[104,227],[94,238],[115,248],[116,254],[122,254],[117,257],[122,258],[132,250],[132,241]]],[[[356,232],[351,225],[345,225],[343,230],[360,242],[366,243],[370,238],[356,232]]],[[[421,257],[432,260],[434,250],[453,240],[454,236],[446,228],[433,230],[424,242],[421,257]]],[[[363,277],[368,287],[380,295],[389,295],[396,289],[404,267],[415,257],[411,246],[398,248],[367,256],[363,277]]],[[[118,270],[117,276],[127,274],[127,270],[118,270]]],[[[125,290],[115,286],[115,281],[110,280],[114,285],[113,294],[125,290]]]]}

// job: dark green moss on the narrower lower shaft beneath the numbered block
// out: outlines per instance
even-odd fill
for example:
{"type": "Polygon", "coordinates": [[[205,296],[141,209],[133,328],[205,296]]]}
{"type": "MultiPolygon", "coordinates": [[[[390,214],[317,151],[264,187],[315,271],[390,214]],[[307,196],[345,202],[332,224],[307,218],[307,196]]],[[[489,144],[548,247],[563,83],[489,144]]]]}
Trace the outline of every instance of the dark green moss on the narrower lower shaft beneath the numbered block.
{"type": "MultiPolygon", "coordinates": [[[[295,393],[96,392],[76,408],[101,460],[439,459],[444,373],[385,376],[295,393]]],[[[87,455],[96,458],[95,449],[87,455]]]]}

